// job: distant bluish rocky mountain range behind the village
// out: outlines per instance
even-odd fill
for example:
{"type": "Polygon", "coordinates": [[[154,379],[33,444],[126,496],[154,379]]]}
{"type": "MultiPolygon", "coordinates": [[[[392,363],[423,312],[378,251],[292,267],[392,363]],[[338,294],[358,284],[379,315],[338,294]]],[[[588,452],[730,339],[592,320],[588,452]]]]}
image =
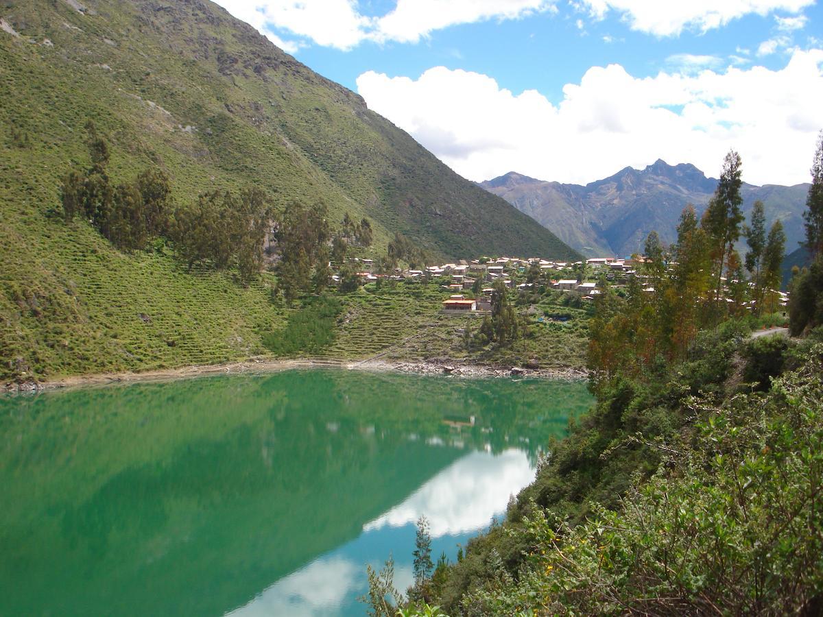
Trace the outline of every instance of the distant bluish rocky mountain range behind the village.
{"type": "MultiPolygon", "coordinates": [[[[657,160],[645,169],[626,167],[609,178],[588,183],[563,184],[509,172],[480,183],[503,197],[566,244],[588,256],[626,256],[642,250],[655,230],[666,243],[677,239],[677,220],[686,204],[700,215],[718,180],[706,178],[694,165],[668,165],[657,160]]],[[[780,219],[786,230],[786,253],[803,238],[802,211],[809,185],[791,187],[743,184],[743,211],[765,204],[769,224],[780,219]]]]}

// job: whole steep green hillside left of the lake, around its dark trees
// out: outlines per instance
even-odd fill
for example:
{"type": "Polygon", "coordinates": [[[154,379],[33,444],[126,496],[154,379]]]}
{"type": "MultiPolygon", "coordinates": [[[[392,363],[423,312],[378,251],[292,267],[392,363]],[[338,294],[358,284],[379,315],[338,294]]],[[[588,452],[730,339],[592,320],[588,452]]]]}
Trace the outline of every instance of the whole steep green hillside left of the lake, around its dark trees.
{"type": "Polygon", "coordinates": [[[576,256],[211,2],[6,2],[0,17],[0,377],[230,360],[284,319],[266,276],[245,289],[63,223],[88,120],[115,182],[156,165],[178,203],[255,186],[370,217],[375,254],[400,231],[440,257],[576,256]]]}

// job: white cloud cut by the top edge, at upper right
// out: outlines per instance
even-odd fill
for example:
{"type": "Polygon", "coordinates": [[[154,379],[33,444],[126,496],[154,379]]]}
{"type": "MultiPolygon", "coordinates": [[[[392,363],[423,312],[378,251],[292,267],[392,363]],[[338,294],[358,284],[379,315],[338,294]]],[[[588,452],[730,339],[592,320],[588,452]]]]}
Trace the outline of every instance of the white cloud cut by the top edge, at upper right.
{"type": "Polygon", "coordinates": [[[797,14],[814,4],[814,0],[579,0],[575,4],[597,19],[616,12],[633,30],[673,36],[685,29],[705,32],[750,14],[765,16],[776,11],[797,14]]]}

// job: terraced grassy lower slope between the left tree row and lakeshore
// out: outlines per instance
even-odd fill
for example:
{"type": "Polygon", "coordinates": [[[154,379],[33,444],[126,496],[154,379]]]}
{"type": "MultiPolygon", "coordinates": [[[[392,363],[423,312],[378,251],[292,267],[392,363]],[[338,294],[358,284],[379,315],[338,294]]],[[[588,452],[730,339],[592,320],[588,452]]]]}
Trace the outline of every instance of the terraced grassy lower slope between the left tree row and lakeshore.
{"type": "Polygon", "coordinates": [[[285,321],[269,276],[245,288],[230,272],[188,273],[168,253],[123,255],[85,224],[53,227],[4,260],[0,378],[238,360],[264,353],[260,332],[285,321]]]}

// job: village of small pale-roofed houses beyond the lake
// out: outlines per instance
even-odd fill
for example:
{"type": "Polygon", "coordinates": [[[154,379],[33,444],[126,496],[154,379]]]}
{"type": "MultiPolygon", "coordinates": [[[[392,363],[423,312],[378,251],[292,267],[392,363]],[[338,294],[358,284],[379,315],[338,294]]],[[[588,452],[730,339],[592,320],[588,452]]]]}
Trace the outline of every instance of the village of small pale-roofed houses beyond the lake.
{"type": "MultiPolygon", "coordinates": [[[[373,259],[351,257],[350,263],[356,271],[360,284],[378,281],[431,281],[438,282],[451,295],[444,299],[444,314],[484,314],[491,311],[491,295],[495,281],[503,281],[512,290],[523,293],[536,288],[574,293],[579,299],[591,301],[607,287],[625,289],[632,278],[636,278],[644,294],[655,293],[650,276],[642,271],[644,257],[633,255],[628,258],[592,257],[586,261],[561,262],[541,257],[480,257],[471,261],[461,259],[453,263],[428,266],[422,270],[395,268],[391,273],[377,271],[373,259]]],[[[669,262],[668,267],[675,266],[669,262]]],[[[340,284],[339,272],[332,275],[332,281],[340,284]]],[[[734,302],[726,277],[722,277],[723,297],[728,303],[734,302]]],[[[731,281],[732,284],[737,281],[731,281]]],[[[751,284],[750,284],[751,285],[751,284]]],[[[772,308],[785,308],[788,293],[769,290],[772,308]]],[[[745,303],[746,309],[755,307],[755,300],[745,303]]]]}

